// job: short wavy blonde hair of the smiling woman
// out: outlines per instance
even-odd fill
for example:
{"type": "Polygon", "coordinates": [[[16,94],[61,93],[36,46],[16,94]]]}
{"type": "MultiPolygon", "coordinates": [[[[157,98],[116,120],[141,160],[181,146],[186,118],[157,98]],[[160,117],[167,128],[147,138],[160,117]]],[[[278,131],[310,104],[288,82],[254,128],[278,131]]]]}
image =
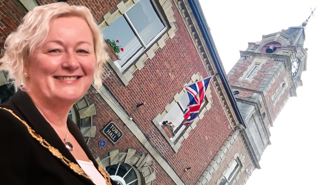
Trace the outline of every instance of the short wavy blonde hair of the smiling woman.
{"type": "Polygon", "coordinates": [[[35,7],[24,16],[23,23],[6,39],[5,51],[0,59],[0,70],[7,70],[8,77],[16,81],[17,87],[24,89],[24,68],[28,66],[29,54],[44,43],[50,22],[63,16],[77,16],[87,22],[93,34],[96,59],[94,85],[96,89],[102,85],[102,65],[106,55],[103,50],[103,37],[93,15],[86,7],[70,6],[61,2],[35,7]]]}

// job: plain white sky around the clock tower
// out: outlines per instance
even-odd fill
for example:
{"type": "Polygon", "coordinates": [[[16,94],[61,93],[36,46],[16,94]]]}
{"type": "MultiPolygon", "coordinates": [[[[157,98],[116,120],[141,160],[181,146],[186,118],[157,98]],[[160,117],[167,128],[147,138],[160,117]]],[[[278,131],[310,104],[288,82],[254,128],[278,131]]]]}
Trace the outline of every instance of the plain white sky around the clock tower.
{"type": "MultiPolygon", "coordinates": [[[[271,145],[247,185],[329,184],[329,121],[326,96],[329,61],[329,1],[199,0],[226,73],[262,35],[299,26],[315,8],[305,29],[308,48],[303,86],[291,97],[270,128],[271,145]]],[[[237,184],[240,185],[240,184],[237,184]]]]}

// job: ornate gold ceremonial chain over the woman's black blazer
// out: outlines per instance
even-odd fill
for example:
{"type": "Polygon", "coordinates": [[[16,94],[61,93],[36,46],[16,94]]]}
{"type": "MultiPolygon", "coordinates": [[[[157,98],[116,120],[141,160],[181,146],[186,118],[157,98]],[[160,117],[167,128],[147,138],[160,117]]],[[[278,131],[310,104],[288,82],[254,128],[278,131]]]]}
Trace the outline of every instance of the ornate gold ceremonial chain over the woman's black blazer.
{"type": "MultiPolygon", "coordinates": [[[[27,123],[26,121],[23,121],[20,117],[18,117],[17,115],[15,115],[12,110],[7,109],[7,108],[3,108],[0,107],[1,109],[7,110],[8,112],[10,112],[15,118],[17,118],[18,120],[20,120],[27,128],[28,132],[30,133],[30,135],[38,140],[40,142],[40,144],[45,147],[53,156],[59,158],[65,165],[67,165],[71,170],[73,170],[75,173],[84,176],[85,178],[93,181],[83,170],[82,168],[80,168],[80,166],[74,162],[71,162],[70,160],[68,160],[65,156],[63,156],[61,154],[61,152],[56,149],[55,147],[51,146],[46,140],[44,140],[39,134],[37,134],[27,123]]],[[[112,185],[110,182],[110,178],[109,175],[106,173],[106,171],[104,169],[102,169],[100,166],[98,167],[98,170],[100,171],[100,173],[103,175],[104,179],[106,180],[106,184],[107,185],[112,185]]]]}

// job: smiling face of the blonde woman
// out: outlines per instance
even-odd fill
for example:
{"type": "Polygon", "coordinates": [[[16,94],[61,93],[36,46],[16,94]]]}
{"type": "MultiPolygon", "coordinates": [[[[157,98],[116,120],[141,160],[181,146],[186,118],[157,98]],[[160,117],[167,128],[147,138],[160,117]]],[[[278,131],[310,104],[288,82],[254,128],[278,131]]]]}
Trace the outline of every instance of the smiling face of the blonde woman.
{"type": "Polygon", "coordinates": [[[93,81],[93,34],[83,18],[50,22],[45,42],[30,53],[26,91],[33,100],[75,103],[93,81]]]}

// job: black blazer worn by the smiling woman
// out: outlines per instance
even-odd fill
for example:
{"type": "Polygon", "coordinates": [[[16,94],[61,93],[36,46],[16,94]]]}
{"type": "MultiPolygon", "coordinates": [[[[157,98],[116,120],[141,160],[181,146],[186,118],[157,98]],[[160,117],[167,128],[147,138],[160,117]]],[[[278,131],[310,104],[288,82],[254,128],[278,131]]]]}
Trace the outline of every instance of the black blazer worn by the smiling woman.
{"type": "MultiPolygon", "coordinates": [[[[11,109],[63,156],[78,164],[27,93],[18,91],[0,107],[11,109]]],[[[0,125],[0,184],[94,184],[53,156],[39,141],[32,138],[23,123],[7,110],[0,109],[0,125]]],[[[98,169],[98,163],[88,149],[78,126],[70,119],[67,126],[98,169]]]]}

